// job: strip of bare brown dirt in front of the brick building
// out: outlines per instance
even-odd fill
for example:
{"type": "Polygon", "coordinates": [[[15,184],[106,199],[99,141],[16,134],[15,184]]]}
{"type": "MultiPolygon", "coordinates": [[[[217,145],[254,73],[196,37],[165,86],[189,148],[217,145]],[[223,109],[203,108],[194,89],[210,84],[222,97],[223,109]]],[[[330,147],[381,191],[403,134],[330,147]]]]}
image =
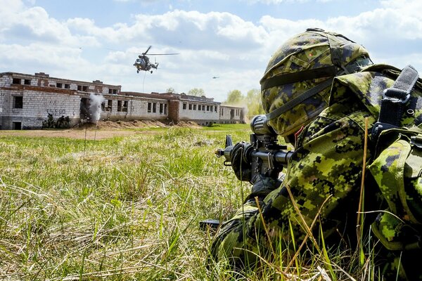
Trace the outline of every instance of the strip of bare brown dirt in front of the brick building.
{"type": "Polygon", "coordinates": [[[158,121],[131,121],[131,122],[98,122],[97,124],[84,124],[72,129],[44,129],[44,130],[22,130],[22,131],[0,131],[1,136],[30,136],[30,137],[59,137],[77,138],[87,140],[101,140],[115,136],[130,136],[138,133],[151,133],[152,131],[136,131],[136,129],[148,128],[170,128],[171,126],[202,128],[194,122],[179,122],[177,125],[164,124],[158,121]],[[135,129],[135,130],[129,130],[135,129]]]}

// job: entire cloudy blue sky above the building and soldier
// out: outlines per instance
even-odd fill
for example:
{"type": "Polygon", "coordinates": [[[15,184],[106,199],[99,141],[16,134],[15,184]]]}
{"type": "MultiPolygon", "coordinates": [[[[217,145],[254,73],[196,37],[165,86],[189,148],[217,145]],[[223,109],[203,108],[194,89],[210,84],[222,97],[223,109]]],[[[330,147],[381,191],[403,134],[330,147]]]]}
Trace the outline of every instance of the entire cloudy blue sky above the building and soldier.
{"type": "Polygon", "coordinates": [[[0,72],[188,93],[260,89],[271,55],[309,27],[338,32],[374,63],[422,72],[420,0],[0,0],[0,72]],[[149,53],[158,70],[136,73],[149,53]],[[213,78],[218,77],[218,78],[213,78]]]}

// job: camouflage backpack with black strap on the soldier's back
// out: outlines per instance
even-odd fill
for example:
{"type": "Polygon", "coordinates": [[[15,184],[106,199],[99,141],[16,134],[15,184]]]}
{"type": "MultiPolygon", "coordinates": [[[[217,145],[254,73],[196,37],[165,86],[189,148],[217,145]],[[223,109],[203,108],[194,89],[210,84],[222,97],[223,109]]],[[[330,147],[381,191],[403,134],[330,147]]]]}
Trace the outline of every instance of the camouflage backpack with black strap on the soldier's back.
{"type": "Polygon", "coordinates": [[[388,203],[388,211],[381,212],[371,228],[393,251],[422,249],[421,86],[418,72],[405,67],[384,90],[371,133],[376,155],[369,171],[388,203]]]}

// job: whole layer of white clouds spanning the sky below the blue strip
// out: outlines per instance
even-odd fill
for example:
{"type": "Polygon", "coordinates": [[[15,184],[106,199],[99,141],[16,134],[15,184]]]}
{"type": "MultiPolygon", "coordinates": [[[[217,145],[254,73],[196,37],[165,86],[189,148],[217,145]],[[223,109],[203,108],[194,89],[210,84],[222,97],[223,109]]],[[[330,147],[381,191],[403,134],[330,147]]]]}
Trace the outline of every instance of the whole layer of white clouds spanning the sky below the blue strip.
{"type": "MultiPolygon", "coordinates": [[[[254,1],[258,2],[282,5],[284,1],[254,1]]],[[[58,20],[28,1],[0,0],[0,5],[1,70],[101,79],[122,84],[124,91],[202,88],[217,100],[224,100],[233,89],[246,93],[259,87],[272,53],[308,27],[345,34],[368,48],[375,61],[399,67],[412,63],[422,70],[418,59],[422,58],[422,1],[385,0],[377,9],[327,19],[264,15],[256,22],[226,12],[173,10],[139,13],[130,22],[108,26],[93,18],[58,20]],[[180,55],[151,55],[159,69],[136,74],[132,64],[149,45],[150,53],[180,55]]]]}

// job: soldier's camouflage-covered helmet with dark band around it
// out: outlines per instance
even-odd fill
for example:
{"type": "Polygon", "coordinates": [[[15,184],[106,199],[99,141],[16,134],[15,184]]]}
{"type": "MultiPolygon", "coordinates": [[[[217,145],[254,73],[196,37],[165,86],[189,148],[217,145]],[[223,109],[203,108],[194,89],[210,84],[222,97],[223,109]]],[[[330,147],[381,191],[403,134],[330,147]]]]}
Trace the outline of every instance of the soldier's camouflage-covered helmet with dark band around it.
{"type": "Polygon", "coordinates": [[[269,125],[289,136],[328,105],[335,76],[372,64],[366,49],[341,34],[307,29],[286,41],[262,77],[262,106],[269,125]]]}

